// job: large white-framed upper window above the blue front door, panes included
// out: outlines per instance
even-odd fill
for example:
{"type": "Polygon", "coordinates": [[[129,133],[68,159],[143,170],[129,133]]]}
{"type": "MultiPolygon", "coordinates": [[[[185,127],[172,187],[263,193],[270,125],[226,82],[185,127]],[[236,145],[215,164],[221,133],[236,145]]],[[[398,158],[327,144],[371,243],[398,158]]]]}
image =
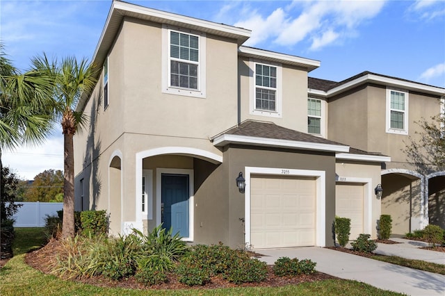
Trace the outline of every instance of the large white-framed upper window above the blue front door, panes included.
{"type": "Polygon", "coordinates": [[[205,97],[206,35],[163,26],[162,92],[205,97]]]}

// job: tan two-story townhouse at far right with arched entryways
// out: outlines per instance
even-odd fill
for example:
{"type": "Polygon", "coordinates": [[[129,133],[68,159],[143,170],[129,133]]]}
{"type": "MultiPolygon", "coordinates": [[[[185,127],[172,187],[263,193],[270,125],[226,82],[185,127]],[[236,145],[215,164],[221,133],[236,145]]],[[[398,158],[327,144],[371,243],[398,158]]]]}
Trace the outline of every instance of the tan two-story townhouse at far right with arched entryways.
{"type": "Polygon", "coordinates": [[[324,114],[315,133],[391,157],[382,164],[381,211],[395,234],[428,223],[445,228],[445,172],[406,152],[422,133],[416,122],[444,114],[444,95],[444,88],[371,72],[340,82],[309,78],[309,101],[324,114]]]}

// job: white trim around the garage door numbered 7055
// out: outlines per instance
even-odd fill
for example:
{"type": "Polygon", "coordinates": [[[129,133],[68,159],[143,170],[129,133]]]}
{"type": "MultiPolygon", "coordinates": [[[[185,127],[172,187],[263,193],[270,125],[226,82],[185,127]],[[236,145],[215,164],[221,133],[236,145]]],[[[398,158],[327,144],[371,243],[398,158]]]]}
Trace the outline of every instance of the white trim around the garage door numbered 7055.
{"type": "Polygon", "coordinates": [[[250,179],[252,174],[275,176],[314,176],[316,178],[316,236],[315,245],[326,245],[326,172],[318,170],[294,170],[284,167],[245,167],[245,245],[250,245],[250,179]]]}

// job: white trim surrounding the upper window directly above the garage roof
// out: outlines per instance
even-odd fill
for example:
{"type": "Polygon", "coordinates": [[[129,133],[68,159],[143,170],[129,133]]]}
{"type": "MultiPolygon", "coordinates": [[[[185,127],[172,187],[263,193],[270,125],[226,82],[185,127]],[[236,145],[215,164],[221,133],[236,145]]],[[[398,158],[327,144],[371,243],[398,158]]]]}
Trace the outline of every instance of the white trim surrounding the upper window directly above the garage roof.
{"type": "Polygon", "coordinates": [[[261,60],[250,59],[249,61],[250,67],[250,114],[251,115],[259,115],[259,116],[267,116],[267,117],[282,117],[282,65],[279,63],[270,63],[264,62],[261,60]],[[268,110],[258,110],[255,108],[255,69],[256,65],[266,65],[277,67],[277,92],[275,93],[275,111],[268,110]]]}

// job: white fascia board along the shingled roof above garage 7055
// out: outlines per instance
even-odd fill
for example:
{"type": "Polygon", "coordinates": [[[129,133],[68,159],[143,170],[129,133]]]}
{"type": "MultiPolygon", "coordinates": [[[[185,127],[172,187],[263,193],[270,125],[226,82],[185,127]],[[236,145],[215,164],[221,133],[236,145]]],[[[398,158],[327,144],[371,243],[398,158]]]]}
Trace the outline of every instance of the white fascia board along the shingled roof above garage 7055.
{"type": "Polygon", "coordinates": [[[303,150],[331,151],[331,152],[349,152],[349,146],[332,145],[314,142],[301,142],[293,140],[281,140],[270,138],[248,137],[245,135],[219,135],[213,139],[214,146],[223,147],[229,143],[263,146],[263,147],[280,147],[293,148],[303,150]]]}

